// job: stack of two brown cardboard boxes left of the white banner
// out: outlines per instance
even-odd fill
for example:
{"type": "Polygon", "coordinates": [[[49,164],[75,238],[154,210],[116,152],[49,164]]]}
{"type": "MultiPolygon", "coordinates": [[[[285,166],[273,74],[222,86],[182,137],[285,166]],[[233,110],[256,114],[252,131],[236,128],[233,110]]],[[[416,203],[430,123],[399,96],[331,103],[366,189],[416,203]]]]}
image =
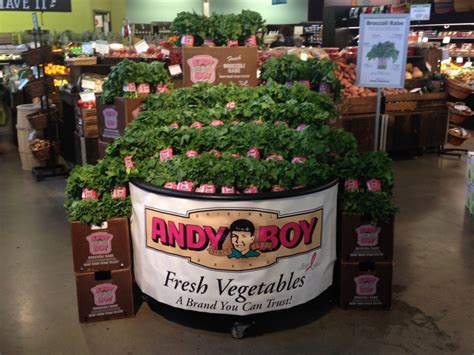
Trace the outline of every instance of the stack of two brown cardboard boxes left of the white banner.
{"type": "Polygon", "coordinates": [[[134,315],[130,229],[127,218],[102,226],[71,223],[79,321],[134,315]]]}

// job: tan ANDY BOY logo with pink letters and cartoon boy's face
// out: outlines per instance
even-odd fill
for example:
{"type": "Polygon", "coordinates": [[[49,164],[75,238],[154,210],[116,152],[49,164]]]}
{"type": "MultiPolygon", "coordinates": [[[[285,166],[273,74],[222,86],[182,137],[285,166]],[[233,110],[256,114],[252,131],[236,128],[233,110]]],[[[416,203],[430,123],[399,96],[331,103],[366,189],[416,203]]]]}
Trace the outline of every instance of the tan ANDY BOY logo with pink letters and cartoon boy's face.
{"type": "Polygon", "coordinates": [[[321,246],[322,208],[285,216],[250,209],[145,213],[147,247],[212,269],[257,269],[321,246]]]}

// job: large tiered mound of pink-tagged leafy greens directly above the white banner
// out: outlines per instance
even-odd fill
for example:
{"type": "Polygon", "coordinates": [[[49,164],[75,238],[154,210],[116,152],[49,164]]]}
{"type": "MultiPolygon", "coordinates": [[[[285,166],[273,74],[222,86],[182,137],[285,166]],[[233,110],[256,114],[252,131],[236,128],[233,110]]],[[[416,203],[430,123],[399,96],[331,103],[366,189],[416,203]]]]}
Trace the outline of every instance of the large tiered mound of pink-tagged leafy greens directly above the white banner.
{"type": "Polygon", "coordinates": [[[69,219],[129,216],[129,199],[114,199],[113,191],[134,178],[183,193],[278,194],[339,177],[359,182],[341,190],[348,212],[389,220],[396,212],[390,159],[359,155],[350,133],[328,126],[335,114],[330,96],[298,83],[199,84],[149,95],[106,157],[72,172],[69,219]]]}

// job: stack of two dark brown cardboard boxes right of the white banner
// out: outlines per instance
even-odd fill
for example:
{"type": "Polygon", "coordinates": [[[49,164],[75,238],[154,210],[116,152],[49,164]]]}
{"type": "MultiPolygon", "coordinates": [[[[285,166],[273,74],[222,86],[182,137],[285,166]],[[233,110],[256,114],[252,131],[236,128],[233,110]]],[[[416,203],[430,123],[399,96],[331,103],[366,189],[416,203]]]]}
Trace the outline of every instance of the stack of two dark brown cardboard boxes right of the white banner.
{"type": "Polygon", "coordinates": [[[336,274],[340,306],[390,309],[393,220],[376,226],[361,215],[342,214],[339,228],[336,274]]]}

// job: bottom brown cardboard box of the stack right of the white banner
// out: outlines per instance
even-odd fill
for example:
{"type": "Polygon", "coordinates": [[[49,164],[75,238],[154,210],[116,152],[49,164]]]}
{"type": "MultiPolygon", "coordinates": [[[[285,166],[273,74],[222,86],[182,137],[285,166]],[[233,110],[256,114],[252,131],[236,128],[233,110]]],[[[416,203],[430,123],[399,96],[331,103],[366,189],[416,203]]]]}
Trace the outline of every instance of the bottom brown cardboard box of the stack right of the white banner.
{"type": "Polygon", "coordinates": [[[341,308],[392,306],[393,262],[360,262],[340,265],[341,308]]]}

